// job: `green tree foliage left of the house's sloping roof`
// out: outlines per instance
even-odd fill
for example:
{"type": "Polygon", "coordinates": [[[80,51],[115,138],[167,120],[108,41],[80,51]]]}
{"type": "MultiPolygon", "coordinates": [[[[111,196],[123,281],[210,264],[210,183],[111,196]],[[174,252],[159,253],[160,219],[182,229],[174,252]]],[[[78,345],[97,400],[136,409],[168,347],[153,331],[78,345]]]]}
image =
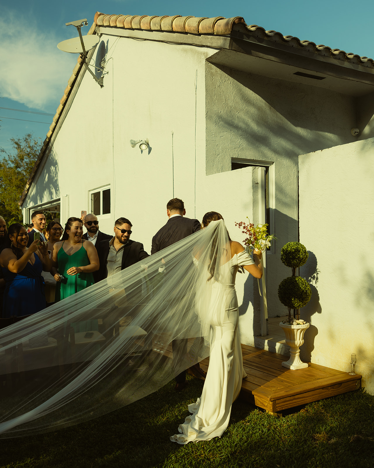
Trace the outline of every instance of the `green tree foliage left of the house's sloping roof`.
{"type": "Polygon", "coordinates": [[[35,139],[32,133],[22,138],[11,138],[10,141],[12,152],[0,148],[0,153],[3,153],[0,161],[0,214],[7,225],[22,222],[18,201],[42,146],[41,139],[35,139]]]}

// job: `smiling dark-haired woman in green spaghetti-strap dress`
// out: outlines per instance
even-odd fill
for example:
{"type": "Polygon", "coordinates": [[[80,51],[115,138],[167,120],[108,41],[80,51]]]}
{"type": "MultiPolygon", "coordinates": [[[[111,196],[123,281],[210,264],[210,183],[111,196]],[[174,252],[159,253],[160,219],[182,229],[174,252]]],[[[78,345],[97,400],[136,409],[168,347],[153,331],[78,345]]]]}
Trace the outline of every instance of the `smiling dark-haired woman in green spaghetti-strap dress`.
{"type": "MultiPolygon", "coordinates": [[[[61,241],[53,248],[53,266],[57,283],[56,302],[94,284],[93,272],[99,270],[99,257],[95,246],[84,241],[83,222],[69,218],[61,241]]],[[[73,325],[76,332],[97,330],[97,320],[88,320],[73,325]]]]}

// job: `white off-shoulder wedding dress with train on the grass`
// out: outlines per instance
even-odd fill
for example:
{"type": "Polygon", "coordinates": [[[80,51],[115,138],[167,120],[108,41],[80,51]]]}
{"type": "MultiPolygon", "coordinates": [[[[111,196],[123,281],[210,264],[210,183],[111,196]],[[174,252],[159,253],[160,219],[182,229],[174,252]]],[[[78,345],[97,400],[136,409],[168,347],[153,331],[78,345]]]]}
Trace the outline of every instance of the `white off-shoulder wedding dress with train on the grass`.
{"type": "MultiPolygon", "coordinates": [[[[239,266],[252,265],[246,250],[235,254],[220,268],[220,276],[212,278],[208,317],[210,320],[209,368],[197,402],[188,405],[192,413],[170,437],[173,442],[187,444],[221,437],[226,430],[231,405],[239,395],[242,379],[246,376],[238,331],[238,304],[235,277],[239,266]]],[[[202,304],[200,307],[203,307],[202,304]]],[[[206,310],[201,311],[201,315],[206,310]]]]}

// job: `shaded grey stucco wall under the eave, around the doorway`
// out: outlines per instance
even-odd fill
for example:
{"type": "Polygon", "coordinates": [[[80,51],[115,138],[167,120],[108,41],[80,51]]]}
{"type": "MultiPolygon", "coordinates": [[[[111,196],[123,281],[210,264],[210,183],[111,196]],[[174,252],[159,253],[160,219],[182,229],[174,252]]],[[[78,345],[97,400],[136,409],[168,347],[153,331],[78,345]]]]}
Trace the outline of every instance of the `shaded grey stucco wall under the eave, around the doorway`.
{"type": "MultiPolygon", "coordinates": [[[[268,255],[269,316],[287,314],[277,289],[288,275],[281,247],[298,239],[297,157],[355,141],[356,117],[351,96],[206,63],[207,174],[230,171],[232,157],[274,161],[277,241],[268,255]]],[[[256,203],[247,215],[257,222],[256,203]]]]}

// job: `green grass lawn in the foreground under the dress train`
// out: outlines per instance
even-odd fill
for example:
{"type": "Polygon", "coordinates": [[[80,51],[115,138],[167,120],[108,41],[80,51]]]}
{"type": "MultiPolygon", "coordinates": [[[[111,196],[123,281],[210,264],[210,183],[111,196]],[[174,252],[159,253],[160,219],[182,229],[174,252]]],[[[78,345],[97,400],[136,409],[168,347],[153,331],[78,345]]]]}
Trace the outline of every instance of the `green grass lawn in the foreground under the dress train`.
{"type": "Polygon", "coordinates": [[[0,439],[0,466],[50,467],[374,467],[374,396],[358,390],[273,417],[233,404],[221,439],[181,446],[169,436],[189,414],[203,382],[158,392],[93,421],[43,435],[0,439]]]}

